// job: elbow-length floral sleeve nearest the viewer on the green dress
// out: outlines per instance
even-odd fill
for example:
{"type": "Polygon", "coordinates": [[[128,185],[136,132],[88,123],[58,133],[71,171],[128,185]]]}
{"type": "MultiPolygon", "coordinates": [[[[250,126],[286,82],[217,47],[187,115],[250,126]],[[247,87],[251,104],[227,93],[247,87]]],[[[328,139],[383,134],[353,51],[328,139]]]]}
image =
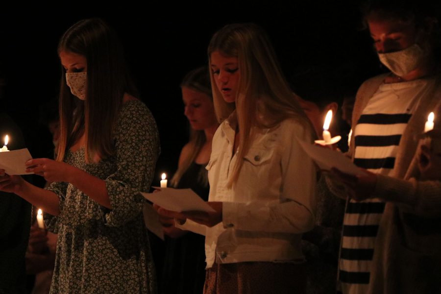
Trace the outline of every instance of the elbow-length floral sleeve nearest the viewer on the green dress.
{"type": "Polygon", "coordinates": [[[156,123],[147,107],[131,102],[115,130],[116,171],[106,179],[112,209],[102,208],[109,226],[120,226],[142,213],[159,155],[156,123]]]}

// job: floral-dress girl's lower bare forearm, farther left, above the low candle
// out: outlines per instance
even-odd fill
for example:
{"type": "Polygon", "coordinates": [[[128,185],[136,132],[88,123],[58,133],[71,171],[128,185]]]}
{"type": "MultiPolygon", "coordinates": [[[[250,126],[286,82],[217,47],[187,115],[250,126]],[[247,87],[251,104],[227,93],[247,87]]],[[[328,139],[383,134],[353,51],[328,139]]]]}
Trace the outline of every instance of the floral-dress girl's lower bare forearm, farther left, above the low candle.
{"type": "Polygon", "coordinates": [[[25,181],[17,195],[53,216],[60,214],[60,199],[52,191],[36,187],[25,181]]]}

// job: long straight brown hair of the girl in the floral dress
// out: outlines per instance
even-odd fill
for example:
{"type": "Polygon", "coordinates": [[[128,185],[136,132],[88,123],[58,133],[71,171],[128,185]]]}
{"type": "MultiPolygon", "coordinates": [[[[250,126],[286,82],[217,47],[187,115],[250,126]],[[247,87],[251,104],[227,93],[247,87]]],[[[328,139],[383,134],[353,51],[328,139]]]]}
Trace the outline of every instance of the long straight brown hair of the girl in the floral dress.
{"type": "Polygon", "coordinates": [[[84,134],[85,161],[114,154],[113,128],[124,93],[136,96],[116,33],[101,19],[81,20],[72,25],[58,43],[58,53],[71,52],[86,57],[86,100],[71,94],[66,70],[61,67],[60,141],[57,160],[84,134]]]}

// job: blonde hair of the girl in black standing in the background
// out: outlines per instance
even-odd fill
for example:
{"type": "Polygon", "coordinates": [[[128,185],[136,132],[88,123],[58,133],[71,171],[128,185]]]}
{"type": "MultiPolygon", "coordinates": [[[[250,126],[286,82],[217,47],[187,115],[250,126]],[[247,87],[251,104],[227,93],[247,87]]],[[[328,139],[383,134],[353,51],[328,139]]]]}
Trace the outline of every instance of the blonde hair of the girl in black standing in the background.
{"type": "MultiPolygon", "coordinates": [[[[207,67],[200,67],[195,70],[187,73],[182,82],[181,88],[186,87],[197,92],[203,93],[207,95],[210,99],[213,99],[211,93],[210,86],[210,75],[208,73],[207,67]]],[[[194,130],[190,128],[190,141],[189,147],[190,152],[183,159],[182,164],[178,167],[176,172],[174,173],[171,184],[173,187],[176,187],[181,180],[182,175],[188,170],[191,164],[196,160],[197,154],[199,154],[200,150],[204,146],[205,142],[207,142],[207,138],[205,137],[205,132],[203,130],[194,130]]],[[[204,186],[208,186],[208,178],[206,173],[204,175],[200,175],[200,178],[196,179],[199,183],[204,186]]]]}

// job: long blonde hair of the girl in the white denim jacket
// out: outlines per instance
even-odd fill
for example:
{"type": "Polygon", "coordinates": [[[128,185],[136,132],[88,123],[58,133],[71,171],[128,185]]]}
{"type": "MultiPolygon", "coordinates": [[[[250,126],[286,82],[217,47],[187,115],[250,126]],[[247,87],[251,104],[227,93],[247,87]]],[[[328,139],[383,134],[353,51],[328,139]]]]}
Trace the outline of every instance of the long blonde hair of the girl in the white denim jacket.
{"type": "Polygon", "coordinates": [[[219,122],[225,120],[236,108],[239,125],[239,154],[231,186],[239,175],[253,140],[253,127],[273,128],[287,118],[293,118],[303,125],[314,137],[311,123],[295,99],[282,74],[276,55],[265,31],[255,24],[226,25],[217,31],[208,46],[208,60],[211,54],[220,51],[230,57],[237,57],[240,71],[235,103],[227,103],[216,86],[210,71],[213,101],[219,122]]]}

